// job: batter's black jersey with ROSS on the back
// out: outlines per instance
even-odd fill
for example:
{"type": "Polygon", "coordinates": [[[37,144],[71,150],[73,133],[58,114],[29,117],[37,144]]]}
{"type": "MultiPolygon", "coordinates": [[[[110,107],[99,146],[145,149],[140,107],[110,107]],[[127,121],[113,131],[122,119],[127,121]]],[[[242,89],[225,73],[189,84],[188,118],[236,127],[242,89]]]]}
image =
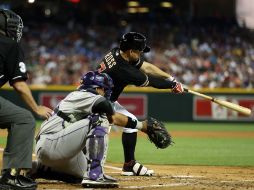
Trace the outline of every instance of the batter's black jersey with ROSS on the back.
{"type": "Polygon", "coordinates": [[[140,67],[143,64],[143,57],[136,62],[128,62],[120,55],[120,49],[114,48],[105,55],[98,66],[99,72],[107,73],[113,80],[111,101],[116,101],[127,85],[146,86],[148,77],[140,67]]]}

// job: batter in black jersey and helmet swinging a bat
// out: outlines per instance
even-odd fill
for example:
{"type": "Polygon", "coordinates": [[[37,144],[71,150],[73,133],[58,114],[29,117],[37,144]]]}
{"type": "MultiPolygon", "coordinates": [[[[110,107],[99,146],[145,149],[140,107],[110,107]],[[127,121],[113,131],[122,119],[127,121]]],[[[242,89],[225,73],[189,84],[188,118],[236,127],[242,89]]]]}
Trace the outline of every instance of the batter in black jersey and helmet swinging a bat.
{"type": "MultiPolygon", "coordinates": [[[[120,47],[113,48],[101,61],[98,71],[107,73],[114,82],[112,96],[115,112],[122,113],[136,120],[136,117],[121,106],[117,99],[127,85],[140,87],[152,86],[158,89],[172,89],[174,93],[182,93],[182,84],[174,77],[163,72],[158,67],[144,61],[143,53],[150,51],[146,38],[140,33],[129,32],[122,36],[120,47]]],[[[124,128],[122,144],[125,163],[122,175],[137,175],[136,168],[141,166],[147,172],[143,175],[152,175],[153,170],[148,170],[135,160],[135,146],[137,129],[124,128]]],[[[142,175],[142,174],[139,174],[142,175]]]]}

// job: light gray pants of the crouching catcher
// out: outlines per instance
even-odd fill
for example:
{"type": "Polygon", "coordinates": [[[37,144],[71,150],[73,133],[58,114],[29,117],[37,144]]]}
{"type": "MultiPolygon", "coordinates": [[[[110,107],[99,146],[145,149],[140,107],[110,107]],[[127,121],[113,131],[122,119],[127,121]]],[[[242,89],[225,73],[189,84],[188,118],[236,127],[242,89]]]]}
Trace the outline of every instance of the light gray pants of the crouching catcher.
{"type": "Polygon", "coordinates": [[[35,152],[38,161],[53,171],[82,178],[87,169],[83,149],[89,133],[89,120],[77,121],[53,134],[41,134],[35,152]]]}

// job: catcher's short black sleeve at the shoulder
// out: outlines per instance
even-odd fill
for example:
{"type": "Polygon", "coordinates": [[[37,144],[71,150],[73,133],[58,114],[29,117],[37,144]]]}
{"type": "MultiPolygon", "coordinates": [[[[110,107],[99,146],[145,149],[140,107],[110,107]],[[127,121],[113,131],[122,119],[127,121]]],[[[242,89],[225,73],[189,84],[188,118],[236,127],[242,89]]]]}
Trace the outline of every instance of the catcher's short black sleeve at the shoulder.
{"type": "Polygon", "coordinates": [[[94,103],[92,112],[99,113],[99,114],[113,115],[114,109],[112,107],[111,102],[103,97],[94,103]]]}

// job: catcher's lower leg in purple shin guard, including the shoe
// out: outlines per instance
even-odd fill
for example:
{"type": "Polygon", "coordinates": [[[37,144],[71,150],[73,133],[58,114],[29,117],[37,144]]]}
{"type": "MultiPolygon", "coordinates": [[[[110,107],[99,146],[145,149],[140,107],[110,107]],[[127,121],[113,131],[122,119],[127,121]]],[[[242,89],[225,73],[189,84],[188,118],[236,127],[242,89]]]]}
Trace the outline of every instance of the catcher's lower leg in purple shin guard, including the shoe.
{"type": "Polygon", "coordinates": [[[88,188],[118,187],[116,179],[105,175],[103,171],[108,147],[108,133],[102,126],[94,127],[87,136],[86,156],[88,159],[87,172],[81,182],[88,188]]]}

